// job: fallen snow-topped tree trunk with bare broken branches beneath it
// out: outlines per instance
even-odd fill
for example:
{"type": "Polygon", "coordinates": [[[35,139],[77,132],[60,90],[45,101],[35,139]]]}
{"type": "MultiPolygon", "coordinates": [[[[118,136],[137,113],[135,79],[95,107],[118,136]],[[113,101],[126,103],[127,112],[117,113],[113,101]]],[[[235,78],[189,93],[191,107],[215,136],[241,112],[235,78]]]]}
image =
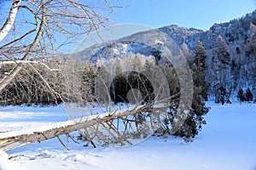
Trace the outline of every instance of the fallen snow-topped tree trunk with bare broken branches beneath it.
{"type": "Polygon", "coordinates": [[[160,115],[166,114],[166,109],[172,107],[171,105],[166,105],[165,107],[160,105],[160,107],[153,108],[153,106],[166,103],[166,101],[177,100],[177,96],[178,95],[172,96],[169,99],[154,104],[137,106],[131,110],[82,117],[67,122],[58,122],[47,127],[0,133],[0,150],[13,150],[25,144],[42,142],[55,137],[60,139],[60,135],[75,131],[81,132],[81,129],[84,129],[84,138],[92,144],[92,140],[95,138],[102,139],[102,144],[105,142],[108,144],[118,143],[120,145],[132,144],[132,142],[129,141],[130,138],[139,139],[142,135],[149,135],[150,132],[155,130],[155,127],[159,126],[161,121],[160,115]],[[143,116],[142,114],[145,112],[148,113],[149,116],[143,116]],[[146,117],[149,117],[148,120],[146,120],[146,117]],[[115,120],[118,120],[118,125],[113,123],[115,120]],[[158,122],[156,122],[156,120],[158,120],[158,122]],[[119,128],[120,122],[123,122],[123,130],[119,128]],[[133,127],[131,126],[132,123],[133,127]],[[100,129],[99,127],[102,128],[100,129]],[[129,128],[132,129],[132,132],[129,131],[129,128]],[[101,130],[105,133],[100,132],[101,130]],[[108,135],[106,135],[106,132],[108,135]]]}

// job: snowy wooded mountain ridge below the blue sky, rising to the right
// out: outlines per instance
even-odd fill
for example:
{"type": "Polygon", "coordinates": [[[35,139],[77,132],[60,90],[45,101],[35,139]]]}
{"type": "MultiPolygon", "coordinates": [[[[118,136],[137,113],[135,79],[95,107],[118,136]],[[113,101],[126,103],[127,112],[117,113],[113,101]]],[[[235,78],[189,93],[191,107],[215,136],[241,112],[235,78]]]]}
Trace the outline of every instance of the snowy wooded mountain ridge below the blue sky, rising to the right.
{"type": "MultiPolygon", "coordinates": [[[[233,90],[235,92],[237,91],[237,88],[250,87],[253,88],[253,93],[256,94],[256,42],[253,42],[252,39],[253,36],[255,37],[256,35],[256,10],[250,14],[241,16],[238,19],[230,20],[229,22],[214,24],[208,31],[195,28],[184,28],[177,25],[163,26],[158,29],[137,32],[131,36],[123,37],[116,41],[106,42],[102,46],[96,45],[96,50],[88,48],[79,54],[76,54],[76,56],[83,59],[83,56],[88,57],[90,55],[87,60],[96,62],[98,59],[97,56],[101,56],[101,58],[108,60],[111,58],[122,57],[124,54],[140,53],[146,54],[147,56],[154,55],[154,43],[158,43],[156,40],[159,32],[171,37],[172,41],[177,43],[179,48],[188,48],[187,50],[189,52],[185,55],[190,65],[194,60],[196,42],[200,41],[207,53],[208,67],[211,65],[215,55],[216,39],[219,36],[222,37],[227,44],[233,65],[232,69],[233,71],[236,70],[236,72],[238,72],[236,73],[236,77],[239,77],[236,79],[237,84],[234,85],[233,82],[235,79],[233,80],[232,78],[235,76],[232,75],[233,73],[231,73],[230,70],[228,80],[230,82],[233,81],[229,84],[230,88],[234,88],[233,90]],[[137,39],[141,40],[141,45],[139,45],[139,43],[135,44],[137,39]],[[149,46],[152,45],[153,48],[146,47],[142,42],[146,42],[145,44],[149,46]],[[249,51],[249,47],[251,51],[249,51]],[[92,51],[94,54],[91,54],[92,51]]],[[[230,64],[230,69],[232,65],[230,64]]],[[[207,74],[209,82],[210,78],[211,75],[207,74]]]]}

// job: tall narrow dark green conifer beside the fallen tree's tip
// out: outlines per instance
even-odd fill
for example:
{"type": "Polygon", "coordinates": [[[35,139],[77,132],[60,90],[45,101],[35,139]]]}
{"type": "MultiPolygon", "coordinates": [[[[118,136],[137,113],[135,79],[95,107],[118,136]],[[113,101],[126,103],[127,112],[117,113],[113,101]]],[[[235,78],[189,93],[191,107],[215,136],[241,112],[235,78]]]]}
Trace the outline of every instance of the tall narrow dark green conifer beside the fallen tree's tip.
{"type": "Polygon", "coordinates": [[[183,123],[175,135],[183,137],[189,141],[201,130],[201,125],[206,124],[204,117],[209,108],[206,106],[204,99],[207,99],[207,82],[206,82],[206,51],[201,42],[197,42],[195,47],[195,60],[193,64],[193,81],[194,95],[189,117],[183,123]]]}

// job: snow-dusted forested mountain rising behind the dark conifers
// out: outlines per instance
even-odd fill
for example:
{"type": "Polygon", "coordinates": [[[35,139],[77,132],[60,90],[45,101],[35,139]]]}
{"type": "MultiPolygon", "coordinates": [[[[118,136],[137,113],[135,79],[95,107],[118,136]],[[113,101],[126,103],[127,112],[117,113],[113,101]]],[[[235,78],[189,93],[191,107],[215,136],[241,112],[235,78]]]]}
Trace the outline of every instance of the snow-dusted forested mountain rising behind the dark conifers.
{"type": "MultiPolygon", "coordinates": [[[[154,37],[156,31],[171,37],[183,49],[190,64],[194,61],[196,43],[198,41],[202,43],[207,52],[207,82],[212,87],[209,90],[210,94],[215,94],[216,88],[221,87],[233,95],[236,95],[239,88],[251,88],[253,94],[256,94],[256,10],[239,19],[214,24],[209,31],[172,25],[138,32],[130,37],[97,47],[96,53],[90,55],[90,60],[97,62],[102,59],[122,57],[124,54],[155,55],[157,51],[155,48],[150,48],[141,42],[143,39],[149,42],[147,38],[154,37]],[[136,39],[141,39],[141,42],[131,41],[136,39]]],[[[78,56],[84,54],[87,55],[88,50],[84,50],[78,56]]]]}

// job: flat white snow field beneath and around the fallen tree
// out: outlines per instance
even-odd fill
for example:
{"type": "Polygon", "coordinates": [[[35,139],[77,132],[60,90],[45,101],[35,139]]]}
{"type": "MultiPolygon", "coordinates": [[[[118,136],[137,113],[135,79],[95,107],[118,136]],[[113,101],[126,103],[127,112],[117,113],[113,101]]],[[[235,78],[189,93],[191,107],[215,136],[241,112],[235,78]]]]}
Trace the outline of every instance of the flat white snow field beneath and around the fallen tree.
{"type": "MultiPolygon", "coordinates": [[[[0,150],[1,170],[256,170],[256,104],[216,105],[194,142],[151,137],[130,147],[84,147],[73,141],[66,150],[58,139],[0,150]]],[[[57,107],[1,107],[0,132],[67,121],[57,107]]],[[[65,137],[62,137],[66,141],[65,137]]]]}

